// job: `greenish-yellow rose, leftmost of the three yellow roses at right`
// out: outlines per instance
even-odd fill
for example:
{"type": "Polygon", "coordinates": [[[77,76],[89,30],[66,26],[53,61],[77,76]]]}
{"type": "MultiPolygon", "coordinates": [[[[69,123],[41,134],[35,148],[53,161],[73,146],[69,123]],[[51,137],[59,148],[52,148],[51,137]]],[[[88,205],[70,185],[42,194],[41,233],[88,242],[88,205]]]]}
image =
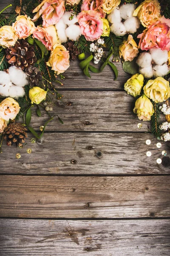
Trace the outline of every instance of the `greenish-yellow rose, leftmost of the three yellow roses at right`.
{"type": "Polygon", "coordinates": [[[144,77],[141,74],[135,74],[125,83],[125,90],[128,94],[136,97],[140,95],[141,89],[143,87],[144,77]]]}

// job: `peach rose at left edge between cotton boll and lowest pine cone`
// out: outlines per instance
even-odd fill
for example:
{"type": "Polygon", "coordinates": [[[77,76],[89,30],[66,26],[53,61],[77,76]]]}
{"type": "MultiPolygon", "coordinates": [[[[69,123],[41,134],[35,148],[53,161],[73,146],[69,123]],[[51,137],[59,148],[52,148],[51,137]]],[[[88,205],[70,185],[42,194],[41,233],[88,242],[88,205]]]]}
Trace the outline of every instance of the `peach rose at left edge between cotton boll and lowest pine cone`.
{"type": "Polygon", "coordinates": [[[0,102],[0,117],[6,121],[13,120],[20,111],[20,106],[13,98],[6,98],[0,102]]]}

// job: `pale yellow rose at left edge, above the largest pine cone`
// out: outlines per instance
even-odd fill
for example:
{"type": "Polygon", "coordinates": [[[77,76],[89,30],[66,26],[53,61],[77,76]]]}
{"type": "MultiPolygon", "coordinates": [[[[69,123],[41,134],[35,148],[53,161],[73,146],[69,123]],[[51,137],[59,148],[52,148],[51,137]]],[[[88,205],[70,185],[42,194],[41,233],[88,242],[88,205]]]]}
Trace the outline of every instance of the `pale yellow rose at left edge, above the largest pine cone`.
{"type": "Polygon", "coordinates": [[[3,48],[14,46],[17,39],[18,37],[11,26],[2,26],[0,28],[0,45],[3,48]]]}

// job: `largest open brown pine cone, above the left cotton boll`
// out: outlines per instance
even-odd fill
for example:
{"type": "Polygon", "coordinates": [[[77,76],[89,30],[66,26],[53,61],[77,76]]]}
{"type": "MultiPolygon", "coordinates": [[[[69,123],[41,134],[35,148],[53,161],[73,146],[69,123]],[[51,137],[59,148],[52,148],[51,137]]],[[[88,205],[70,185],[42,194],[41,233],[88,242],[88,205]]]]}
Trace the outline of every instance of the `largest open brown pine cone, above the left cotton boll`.
{"type": "Polygon", "coordinates": [[[6,58],[12,66],[21,67],[25,70],[36,61],[34,46],[26,40],[18,40],[14,46],[6,49],[6,58]]]}

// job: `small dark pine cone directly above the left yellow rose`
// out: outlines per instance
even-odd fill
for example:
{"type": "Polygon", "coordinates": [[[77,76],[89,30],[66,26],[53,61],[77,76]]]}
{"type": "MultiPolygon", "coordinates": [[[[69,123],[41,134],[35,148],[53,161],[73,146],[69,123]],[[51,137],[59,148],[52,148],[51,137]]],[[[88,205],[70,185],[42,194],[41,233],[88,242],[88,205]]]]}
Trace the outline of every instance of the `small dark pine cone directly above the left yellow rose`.
{"type": "Polygon", "coordinates": [[[30,66],[25,70],[27,74],[27,79],[29,81],[29,85],[33,87],[34,85],[39,85],[42,80],[41,71],[37,67],[30,66]]]}

